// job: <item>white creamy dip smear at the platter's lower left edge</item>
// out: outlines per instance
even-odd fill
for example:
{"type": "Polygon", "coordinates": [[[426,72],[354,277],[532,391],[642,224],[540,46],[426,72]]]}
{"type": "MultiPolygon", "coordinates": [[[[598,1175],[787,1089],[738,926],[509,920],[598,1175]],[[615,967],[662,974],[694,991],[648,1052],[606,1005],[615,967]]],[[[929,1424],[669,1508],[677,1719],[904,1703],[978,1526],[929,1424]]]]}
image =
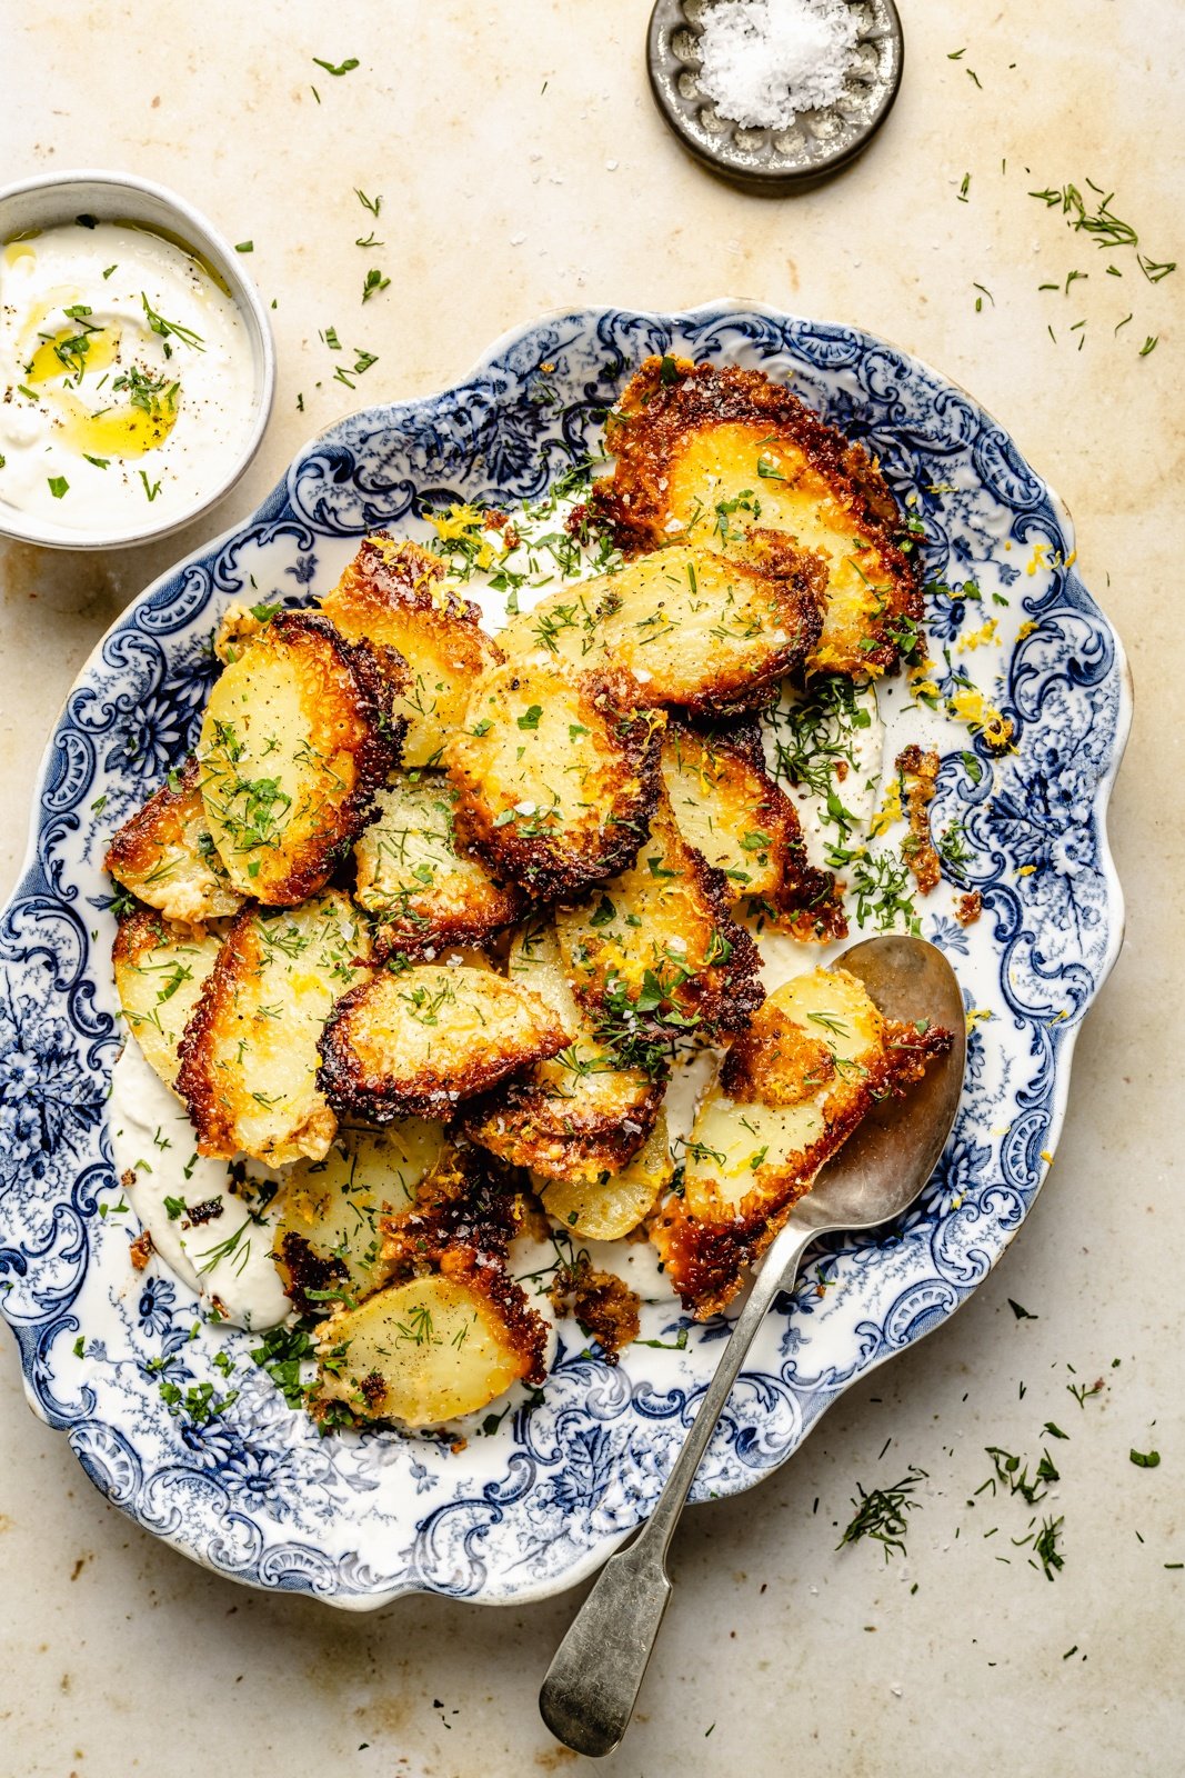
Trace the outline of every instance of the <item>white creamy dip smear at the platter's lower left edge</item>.
{"type": "Polygon", "coordinates": [[[112,1072],[110,1131],[115,1172],[156,1255],[194,1289],[203,1309],[240,1328],[272,1328],[291,1312],[272,1241],[279,1195],[261,1204],[279,1173],[249,1161],[240,1186],[226,1161],[195,1152],[188,1111],[147,1065],[133,1037],[112,1072]],[[251,1186],[265,1191],[252,1193],[251,1186]],[[187,1209],[178,1209],[181,1202],[187,1209]],[[190,1207],[219,1205],[194,1221],[190,1207]]]}

